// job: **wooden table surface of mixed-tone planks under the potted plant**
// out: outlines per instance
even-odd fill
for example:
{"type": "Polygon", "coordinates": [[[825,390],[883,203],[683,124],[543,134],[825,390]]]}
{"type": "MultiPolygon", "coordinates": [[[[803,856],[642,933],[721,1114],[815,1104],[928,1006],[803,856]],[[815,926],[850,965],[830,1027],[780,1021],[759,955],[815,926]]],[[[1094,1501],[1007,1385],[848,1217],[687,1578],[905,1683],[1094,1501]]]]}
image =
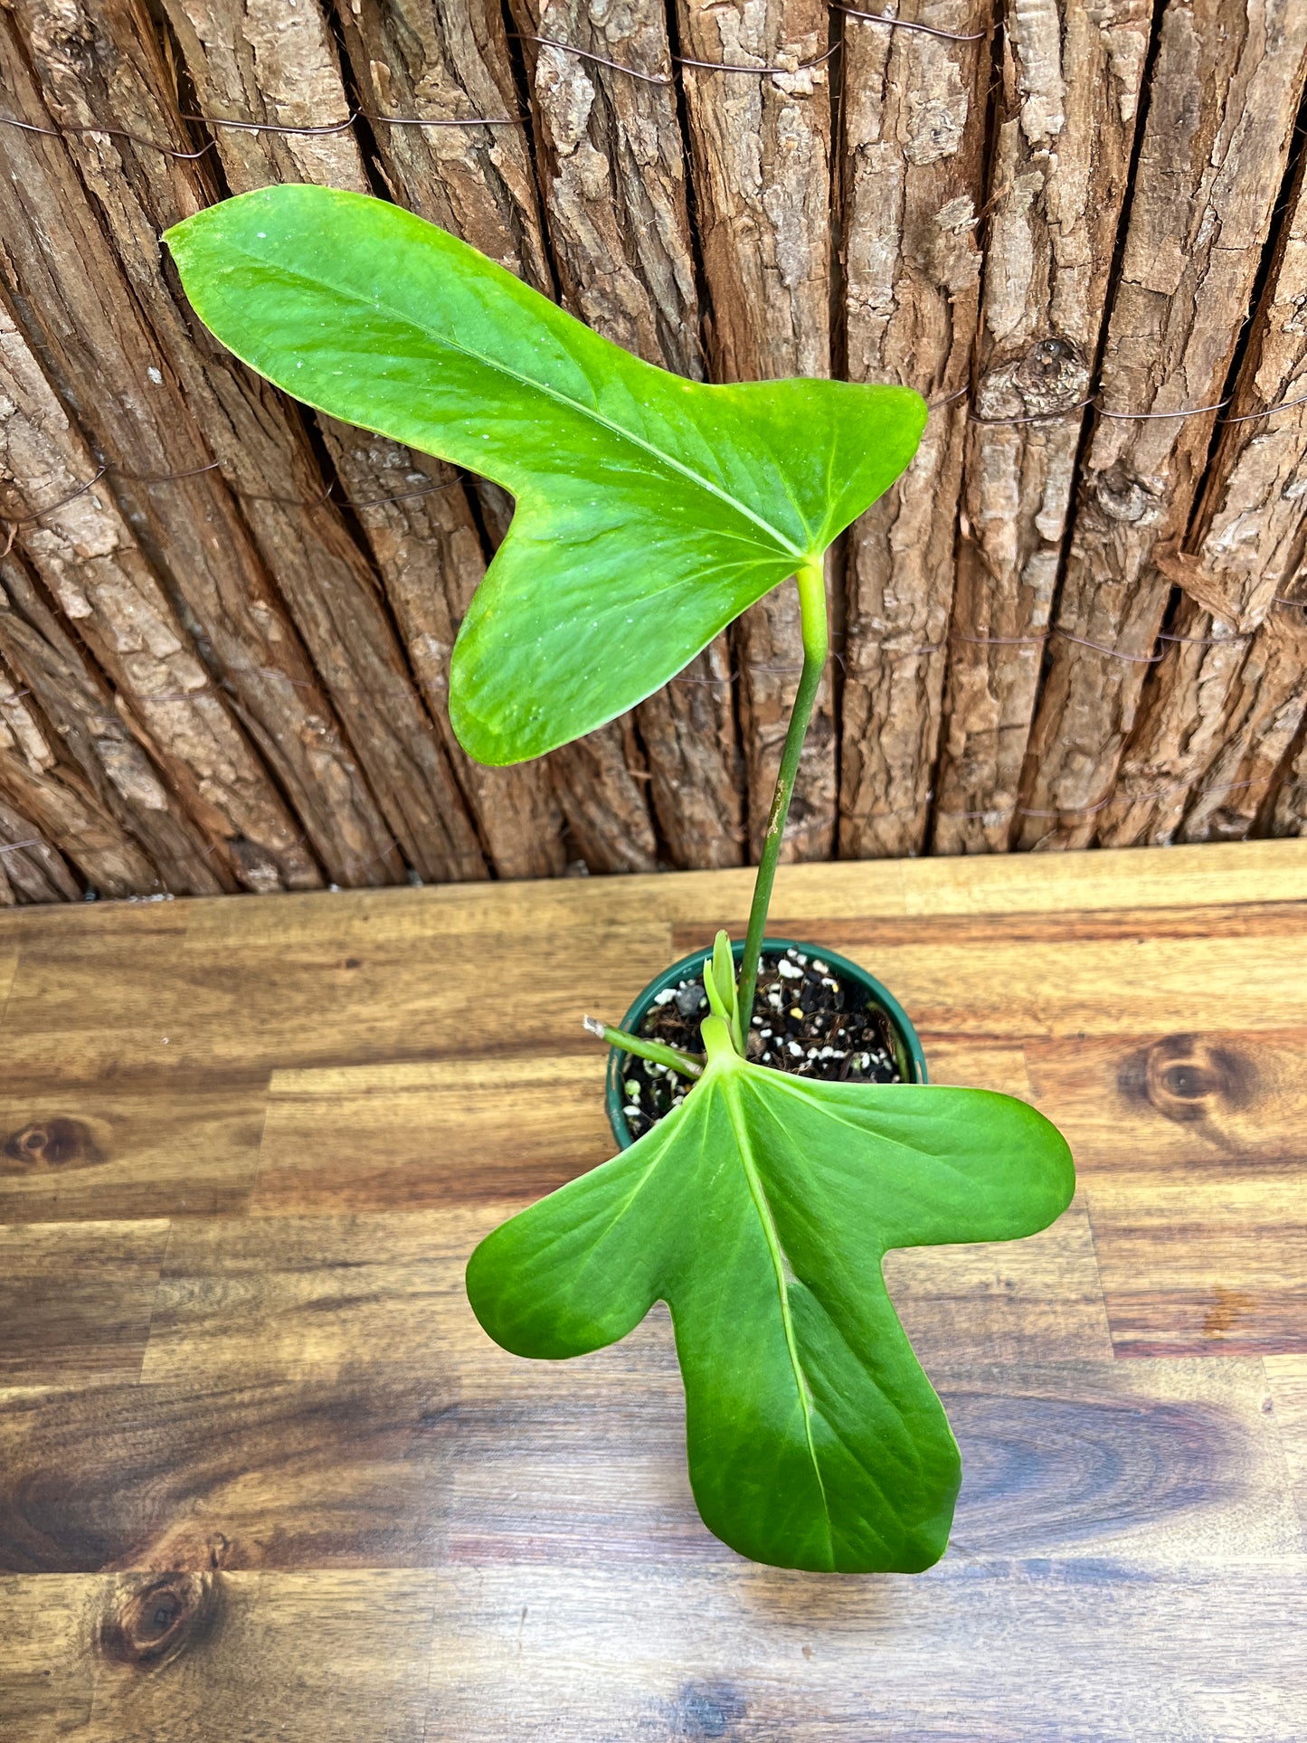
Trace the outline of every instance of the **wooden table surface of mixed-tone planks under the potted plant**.
{"type": "Polygon", "coordinates": [[[462,1271],[610,1154],[601,1051],[746,873],[0,919],[5,1743],[1307,1738],[1307,842],[781,873],[1046,1234],[891,1255],[939,1567],[699,1523],[666,1312],[518,1361],[462,1271]]]}

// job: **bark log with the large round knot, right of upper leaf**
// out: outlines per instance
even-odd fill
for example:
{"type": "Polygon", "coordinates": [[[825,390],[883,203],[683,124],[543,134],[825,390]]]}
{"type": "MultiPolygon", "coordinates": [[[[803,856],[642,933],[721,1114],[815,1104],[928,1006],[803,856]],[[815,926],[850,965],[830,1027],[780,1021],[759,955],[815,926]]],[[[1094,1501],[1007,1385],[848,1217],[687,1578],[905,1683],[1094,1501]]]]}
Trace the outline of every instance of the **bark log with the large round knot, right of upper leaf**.
{"type": "Polygon", "coordinates": [[[1150,16],[1148,0],[1004,7],[936,852],[997,852],[1012,833],[1150,16]]]}

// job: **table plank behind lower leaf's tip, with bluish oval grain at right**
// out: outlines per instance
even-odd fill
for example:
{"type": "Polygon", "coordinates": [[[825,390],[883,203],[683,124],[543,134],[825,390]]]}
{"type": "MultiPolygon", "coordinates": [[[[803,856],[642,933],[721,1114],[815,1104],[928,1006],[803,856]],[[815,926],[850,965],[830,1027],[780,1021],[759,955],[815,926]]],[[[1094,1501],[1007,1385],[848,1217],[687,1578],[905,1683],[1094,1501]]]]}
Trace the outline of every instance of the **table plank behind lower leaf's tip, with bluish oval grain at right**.
{"type": "MultiPolygon", "coordinates": [[[[565,1377],[544,1368],[467,1358],[453,1562],[739,1570],[690,1497],[666,1311],[634,1340],[575,1358],[565,1377]]],[[[932,1361],[929,1372],[964,1466],[946,1565],[1053,1556],[1178,1569],[1302,1548],[1256,1361],[932,1361]]]]}

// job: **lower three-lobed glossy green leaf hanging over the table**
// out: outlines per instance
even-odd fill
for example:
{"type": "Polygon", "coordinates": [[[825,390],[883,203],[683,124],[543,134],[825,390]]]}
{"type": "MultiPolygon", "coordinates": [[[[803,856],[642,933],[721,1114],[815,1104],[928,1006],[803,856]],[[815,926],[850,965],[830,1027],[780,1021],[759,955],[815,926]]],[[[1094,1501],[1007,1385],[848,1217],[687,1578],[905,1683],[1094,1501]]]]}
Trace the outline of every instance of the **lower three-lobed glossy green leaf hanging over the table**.
{"type": "Polygon", "coordinates": [[[472,1253],[518,1356],[579,1356],[671,1307],[708,1527],[779,1567],[918,1572],[960,1459],[882,1279],[894,1246],[1047,1227],[1075,1173],[1042,1114],[985,1089],[749,1065],[720,1018],[680,1109],[472,1253]]]}

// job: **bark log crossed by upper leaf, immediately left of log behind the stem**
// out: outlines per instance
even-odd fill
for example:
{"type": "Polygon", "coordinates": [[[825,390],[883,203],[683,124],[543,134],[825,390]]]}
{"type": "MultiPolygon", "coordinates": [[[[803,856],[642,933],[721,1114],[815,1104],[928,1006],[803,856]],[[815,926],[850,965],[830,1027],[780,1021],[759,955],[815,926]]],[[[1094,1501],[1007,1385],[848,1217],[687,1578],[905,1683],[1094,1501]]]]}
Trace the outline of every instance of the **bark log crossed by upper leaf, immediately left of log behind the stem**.
{"type": "MultiPolygon", "coordinates": [[[[640,0],[603,19],[580,0],[512,0],[512,10],[532,82],[563,302],[613,343],[702,378],[662,5],[640,0]]],[[[730,685],[720,682],[728,671],[723,640],[687,668],[681,683],[636,709],[650,751],[654,812],[676,866],[742,859],[735,720],[730,685]]]]}

